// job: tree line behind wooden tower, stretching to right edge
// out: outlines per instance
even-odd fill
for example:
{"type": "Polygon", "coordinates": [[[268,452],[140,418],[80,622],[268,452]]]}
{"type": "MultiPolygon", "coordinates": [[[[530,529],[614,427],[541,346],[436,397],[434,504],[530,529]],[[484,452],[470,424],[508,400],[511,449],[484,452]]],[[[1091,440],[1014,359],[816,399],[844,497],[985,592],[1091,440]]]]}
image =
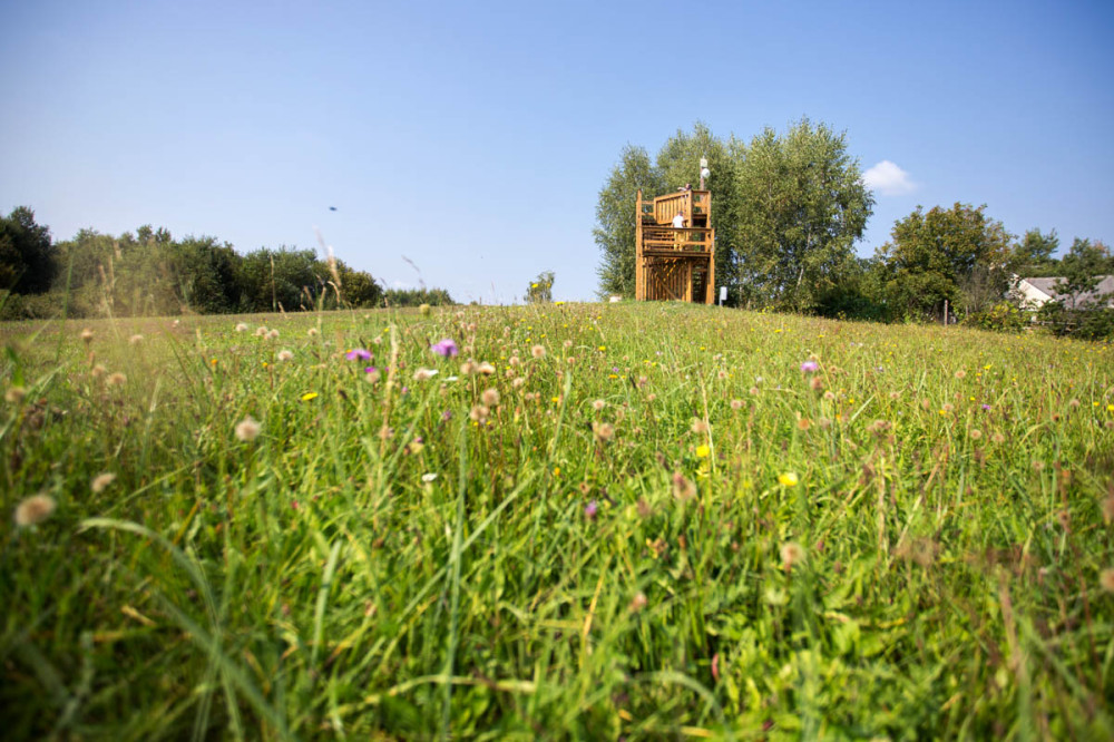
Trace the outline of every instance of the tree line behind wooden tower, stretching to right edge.
{"type": "Polygon", "coordinates": [[[634,296],[637,191],[652,197],[692,184],[701,157],[712,172],[715,275],[733,305],[892,322],[940,320],[947,302],[960,320],[989,326],[1008,309],[1016,276],[1065,276],[1063,289],[1077,292],[1114,273],[1101,242],[1076,238],[1057,257],[1055,231],[1018,238],[985,206],[961,203],[918,206],[872,257],[858,257],[874,197],[846,133],[803,118],[743,141],[697,123],[655,158],[633,145],[619,154],[596,206],[600,295],[634,296]]]}

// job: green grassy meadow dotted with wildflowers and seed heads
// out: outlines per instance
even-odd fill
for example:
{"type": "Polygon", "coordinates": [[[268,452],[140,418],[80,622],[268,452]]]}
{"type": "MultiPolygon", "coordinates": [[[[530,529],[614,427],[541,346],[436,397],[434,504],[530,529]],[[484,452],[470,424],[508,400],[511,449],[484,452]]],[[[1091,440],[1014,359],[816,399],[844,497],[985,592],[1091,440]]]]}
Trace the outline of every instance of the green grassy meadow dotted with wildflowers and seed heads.
{"type": "Polygon", "coordinates": [[[1114,739],[1110,345],[629,303],[0,341],[9,739],[1114,739]]]}

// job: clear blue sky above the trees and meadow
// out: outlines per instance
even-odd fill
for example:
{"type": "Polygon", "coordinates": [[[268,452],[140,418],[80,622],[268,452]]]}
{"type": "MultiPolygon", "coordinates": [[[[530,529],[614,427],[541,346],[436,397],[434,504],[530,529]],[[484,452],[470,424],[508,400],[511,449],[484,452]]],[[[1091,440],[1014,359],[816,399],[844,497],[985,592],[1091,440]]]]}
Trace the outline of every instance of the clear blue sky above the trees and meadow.
{"type": "MultiPolygon", "coordinates": [[[[846,130],[918,204],[1114,242],[1112,2],[3,2],[0,209],[316,246],[387,285],[590,299],[627,143],[846,130]],[[331,212],[330,206],[338,211],[331,212]]],[[[714,175],[713,175],[714,177],[714,175]]],[[[882,188],[881,186],[885,186],[882,188]]]]}

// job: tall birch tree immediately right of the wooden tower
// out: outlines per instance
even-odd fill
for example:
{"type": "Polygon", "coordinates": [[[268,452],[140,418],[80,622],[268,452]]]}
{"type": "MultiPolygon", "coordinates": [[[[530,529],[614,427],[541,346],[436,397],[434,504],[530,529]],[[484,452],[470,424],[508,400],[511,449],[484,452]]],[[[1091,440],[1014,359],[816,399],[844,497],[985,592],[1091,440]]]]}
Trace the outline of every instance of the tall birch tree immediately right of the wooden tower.
{"type": "Polygon", "coordinates": [[[853,267],[874,205],[847,135],[804,118],[736,149],[736,279],[749,302],[812,310],[853,267]]]}

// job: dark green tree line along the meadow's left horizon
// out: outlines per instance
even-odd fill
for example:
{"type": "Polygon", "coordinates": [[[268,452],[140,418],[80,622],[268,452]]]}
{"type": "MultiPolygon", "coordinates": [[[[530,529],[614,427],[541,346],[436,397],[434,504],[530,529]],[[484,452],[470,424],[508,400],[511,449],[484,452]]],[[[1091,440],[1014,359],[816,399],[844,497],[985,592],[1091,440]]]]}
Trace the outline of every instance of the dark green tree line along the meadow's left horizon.
{"type": "Polygon", "coordinates": [[[0,216],[0,319],[150,316],[452,304],[443,289],[383,289],[313,250],[246,254],[211,236],[175,240],[144,225],[118,236],[81,230],[53,242],[20,206],[0,216]]]}

